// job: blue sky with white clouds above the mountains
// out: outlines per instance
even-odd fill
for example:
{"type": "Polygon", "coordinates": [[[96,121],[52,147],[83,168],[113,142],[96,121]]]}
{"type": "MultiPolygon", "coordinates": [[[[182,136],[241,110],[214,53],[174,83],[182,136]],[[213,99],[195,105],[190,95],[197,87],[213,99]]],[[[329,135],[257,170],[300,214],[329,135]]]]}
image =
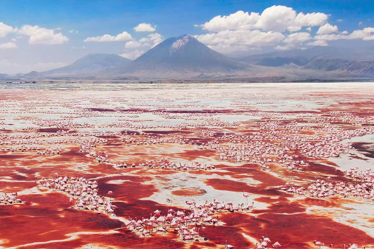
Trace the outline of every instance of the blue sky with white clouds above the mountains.
{"type": "Polygon", "coordinates": [[[182,34],[233,57],[315,45],[374,46],[373,7],[373,1],[349,0],[1,1],[0,73],[42,71],[95,52],[135,59],[182,34]],[[282,7],[268,9],[274,5],[282,7]],[[148,29],[135,31],[142,23],[148,29]],[[88,39],[103,35],[109,37],[88,39]]]}

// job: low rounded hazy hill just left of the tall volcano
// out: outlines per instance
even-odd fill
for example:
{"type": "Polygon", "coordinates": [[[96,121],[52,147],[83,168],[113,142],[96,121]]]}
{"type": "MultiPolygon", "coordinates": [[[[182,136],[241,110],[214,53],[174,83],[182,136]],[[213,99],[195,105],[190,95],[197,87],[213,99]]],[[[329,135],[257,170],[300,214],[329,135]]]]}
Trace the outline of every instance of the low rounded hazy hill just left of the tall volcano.
{"type": "Polygon", "coordinates": [[[132,60],[114,54],[89,54],[62,68],[41,72],[43,76],[87,75],[117,66],[123,66],[132,60]]]}

